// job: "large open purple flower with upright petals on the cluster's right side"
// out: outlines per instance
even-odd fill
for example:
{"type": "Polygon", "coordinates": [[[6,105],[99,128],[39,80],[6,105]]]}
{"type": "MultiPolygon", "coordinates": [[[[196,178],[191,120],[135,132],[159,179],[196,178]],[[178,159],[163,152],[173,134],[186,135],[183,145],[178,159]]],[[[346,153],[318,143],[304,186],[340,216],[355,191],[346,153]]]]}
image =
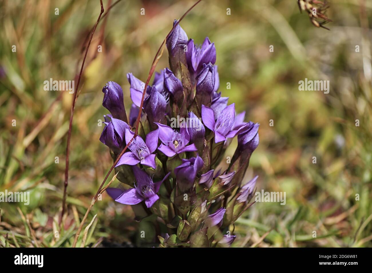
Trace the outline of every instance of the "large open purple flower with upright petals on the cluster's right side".
{"type": "Polygon", "coordinates": [[[202,105],[202,120],[206,127],[215,133],[215,143],[225,141],[229,137],[234,137],[244,126],[235,128],[235,104],[230,104],[221,111],[217,117],[217,121],[214,120],[214,112],[211,108],[202,105]]]}

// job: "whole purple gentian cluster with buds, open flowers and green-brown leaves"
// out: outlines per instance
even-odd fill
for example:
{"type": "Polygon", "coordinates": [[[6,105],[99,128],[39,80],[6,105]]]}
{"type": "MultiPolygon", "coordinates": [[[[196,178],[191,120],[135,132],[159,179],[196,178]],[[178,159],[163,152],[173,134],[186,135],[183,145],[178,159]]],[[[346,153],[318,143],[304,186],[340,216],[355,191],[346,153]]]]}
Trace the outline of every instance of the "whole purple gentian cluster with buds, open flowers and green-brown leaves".
{"type": "Polygon", "coordinates": [[[145,88],[127,74],[129,121],[121,87],[115,82],[103,87],[103,106],[111,114],[105,116],[100,141],[110,148],[114,161],[129,144],[115,166],[117,178],[126,185],[107,192],[121,204],[142,208],[137,220],[156,215],[162,247],[230,246],[235,235],[228,228],[252,204],[257,176],[247,183],[243,177],[259,144],[259,124],[245,122],[245,112],[235,113],[235,104],[229,105],[218,92],[216,49],[208,37],[196,45],[177,25],[166,46],[170,68],[156,72],[151,86],[145,88]],[[178,127],[172,126],[175,119],[181,120],[178,127]],[[237,149],[228,168],[222,169],[235,136],[237,149]]]}

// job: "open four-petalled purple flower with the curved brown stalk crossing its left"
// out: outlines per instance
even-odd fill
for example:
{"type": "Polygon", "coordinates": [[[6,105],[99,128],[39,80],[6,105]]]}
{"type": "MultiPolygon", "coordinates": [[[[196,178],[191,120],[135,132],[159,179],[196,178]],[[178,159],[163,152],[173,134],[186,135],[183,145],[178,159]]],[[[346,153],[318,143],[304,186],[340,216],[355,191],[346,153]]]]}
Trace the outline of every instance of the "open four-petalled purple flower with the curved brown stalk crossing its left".
{"type": "MultiPolygon", "coordinates": [[[[124,153],[115,167],[124,164],[136,165],[138,163],[141,163],[142,165],[150,166],[151,168],[156,169],[155,155],[153,154],[153,152],[158,146],[158,133],[158,130],[148,133],[146,136],[146,143],[140,136],[135,137],[133,142],[128,147],[131,152],[124,153]]],[[[125,130],[126,144],[131,141],[133,136],[134,132],[129,129],[125,130]]]]}

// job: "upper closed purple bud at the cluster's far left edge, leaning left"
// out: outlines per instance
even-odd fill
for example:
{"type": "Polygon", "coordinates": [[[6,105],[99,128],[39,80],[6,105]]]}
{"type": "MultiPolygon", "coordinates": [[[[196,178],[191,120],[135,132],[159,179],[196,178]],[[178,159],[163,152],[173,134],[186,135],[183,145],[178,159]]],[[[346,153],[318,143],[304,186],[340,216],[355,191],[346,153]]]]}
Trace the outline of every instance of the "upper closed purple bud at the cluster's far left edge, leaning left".
{"type": "Polygon", "coordinates": [[[116,82],[109,81],[102,88],[102,92],[105,94],[102,102],[103,107],[109,110],[114,118],[127,122],[123,90],[120,85],[116,82]]]}

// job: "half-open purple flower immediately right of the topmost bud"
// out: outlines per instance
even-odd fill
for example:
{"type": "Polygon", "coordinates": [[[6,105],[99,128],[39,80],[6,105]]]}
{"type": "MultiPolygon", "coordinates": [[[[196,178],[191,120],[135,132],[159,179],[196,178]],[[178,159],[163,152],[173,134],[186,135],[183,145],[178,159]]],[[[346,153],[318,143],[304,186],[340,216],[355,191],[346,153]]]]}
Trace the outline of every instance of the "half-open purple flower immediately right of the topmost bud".
{"type": "Polygon", "coordinates": [[[190,39],[187,42],[186,60],[190,73],[198,75],[203,69],[203,64],[215,64],[216,48],[214,43],[211,43],[209,38],[206,37],[202,45],[199,46],[194,44],[193,39],[190,39]]]}

